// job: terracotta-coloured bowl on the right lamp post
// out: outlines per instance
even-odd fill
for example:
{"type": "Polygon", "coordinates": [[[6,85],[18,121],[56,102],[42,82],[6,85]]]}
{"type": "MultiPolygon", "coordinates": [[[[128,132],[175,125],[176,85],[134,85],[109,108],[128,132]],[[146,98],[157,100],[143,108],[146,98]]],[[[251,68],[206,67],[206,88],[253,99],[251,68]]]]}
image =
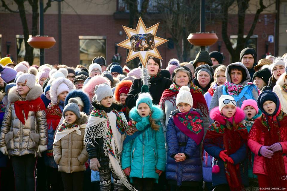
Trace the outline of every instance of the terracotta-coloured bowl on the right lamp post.
{"type": "Polygon", "coordinates": [[[210,46],[218,40],[215,33],[190,33],[187,40],[194,46],[210,46]]]}

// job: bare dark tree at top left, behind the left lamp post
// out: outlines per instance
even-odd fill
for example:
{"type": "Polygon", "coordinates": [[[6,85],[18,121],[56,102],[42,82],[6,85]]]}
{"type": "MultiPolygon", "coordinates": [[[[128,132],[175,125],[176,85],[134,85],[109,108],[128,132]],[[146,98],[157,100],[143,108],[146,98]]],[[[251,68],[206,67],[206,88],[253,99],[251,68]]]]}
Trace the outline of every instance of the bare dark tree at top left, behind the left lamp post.
{"type": "MultiPolygon", "coordinates": [[[[39,18],[39,12],[38,12],[38,6],[39,6],[39,0],[14,0],[14,2],[18,6],[18,10],[11,10],[5,0],[1,0],[2,7],[4,7],[6,10],[8,10],[10,13],[19,13],[20,19],[22,22],[23,27],[23,35],[24,35],[24,42],[25,42],[25,61],[28,61],[30,64],[33,63],[33,47],[31,47],[28,44],[29,35],[36,36],[38,34],[38,18],[39,18]],[[29,2],[29,5],[32,7],[32,31],[29,32],[28,22],[26,18],[26,9],[25,9],[25,1],[29,2]]],[[[46,7],[44,8],[44,12],[51,7],[51,1],[49,0],[46,4],[46,7]]]]}

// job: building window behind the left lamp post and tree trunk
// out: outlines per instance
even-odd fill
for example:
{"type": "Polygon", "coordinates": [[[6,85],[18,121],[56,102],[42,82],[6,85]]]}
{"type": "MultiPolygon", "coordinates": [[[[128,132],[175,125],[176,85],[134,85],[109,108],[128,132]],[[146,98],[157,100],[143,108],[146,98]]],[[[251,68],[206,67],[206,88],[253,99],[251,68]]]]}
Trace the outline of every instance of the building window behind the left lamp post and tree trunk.
{"type": "MultiPolygon", "coordinates": [[[[31,36],[32,35],[29,35],[29,37],[31,36]]],[[[16,35],[16,51],[17,51],[17,59],[16,59],[17,63],[24,61],[26,51],[25,51],[25,42],[23,35],[16,35]]],[[[37,66],[40,66],[40,49],[34,48],[33,56],[34,60],[33,63],[30,63],[30,65],[35,64],[37,66]]]]}

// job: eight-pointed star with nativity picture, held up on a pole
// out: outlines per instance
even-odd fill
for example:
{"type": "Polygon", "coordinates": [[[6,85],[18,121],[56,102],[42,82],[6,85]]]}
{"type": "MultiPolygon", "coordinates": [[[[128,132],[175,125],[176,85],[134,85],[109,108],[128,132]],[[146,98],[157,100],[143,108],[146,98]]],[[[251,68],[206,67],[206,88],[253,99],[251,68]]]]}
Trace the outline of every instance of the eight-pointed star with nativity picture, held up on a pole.
{"type": "MultiPolygon", "coordinates": [[[[141,60],[141,63],[145,67],[149,56],[154,56],[155,58],[162,59],[161,55],[158,52],[157,47],[161,44],[164,44],[168,40],[166,40],[164,38],[160,38],[158,36],[155,36],[156,32],[158,30],[158,25],[159,25],[159,23],[157,23],[157,24],[155,24],[149,28],[146,28],[143,20],[140,17],[138,20],[138,25],[137,25],[136,29],[132,29],[132,28],[123,26],[123,29],[125,30],[128,38],[126,40],[122,41],[121,43],[117,44],[117,46],[129,49],[129,54],[126,58],[126,62],[131,61],[132,59],[134,59],[136,57],[139,57],[139,59],[141,60]],[[148,48],[148,47],[146,47],[145,49],[142,48],[141,51],[139,51],[139,50],[134,51],[135,49],[132,50],[132,44],[131,44],[132,38],[138,38],[139,37],[139,39],[140,39],[140,38],[144,37],[146,39],[146,36],[151,36],[150,38],[154,38],[154,41],[152,41],[152,43],[154,43],[153,46],[151,46],[152,48],[148,48]]],[[[144,43],[146,43],[146,42],[144,42],[144,43]]],[[[134,46],[135,46],[135,44],[134,44],[134,46]]]]}

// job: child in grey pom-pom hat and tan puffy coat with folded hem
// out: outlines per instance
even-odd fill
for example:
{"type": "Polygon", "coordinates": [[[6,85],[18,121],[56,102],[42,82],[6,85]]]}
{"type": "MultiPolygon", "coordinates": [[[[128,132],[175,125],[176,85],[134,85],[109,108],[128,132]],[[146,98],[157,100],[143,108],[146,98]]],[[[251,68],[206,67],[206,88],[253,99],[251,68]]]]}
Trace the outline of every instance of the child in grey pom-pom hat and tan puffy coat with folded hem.
{"type": "Polygon", "coordinates": [[[83,190],[83,177],[88,152],[84,134],[88,116],[80,112],[78,101],[71,98],[63,110],[65,119],[59,126],[53,143],[54,160],[59,164],[65,190],[83,190]]]}

